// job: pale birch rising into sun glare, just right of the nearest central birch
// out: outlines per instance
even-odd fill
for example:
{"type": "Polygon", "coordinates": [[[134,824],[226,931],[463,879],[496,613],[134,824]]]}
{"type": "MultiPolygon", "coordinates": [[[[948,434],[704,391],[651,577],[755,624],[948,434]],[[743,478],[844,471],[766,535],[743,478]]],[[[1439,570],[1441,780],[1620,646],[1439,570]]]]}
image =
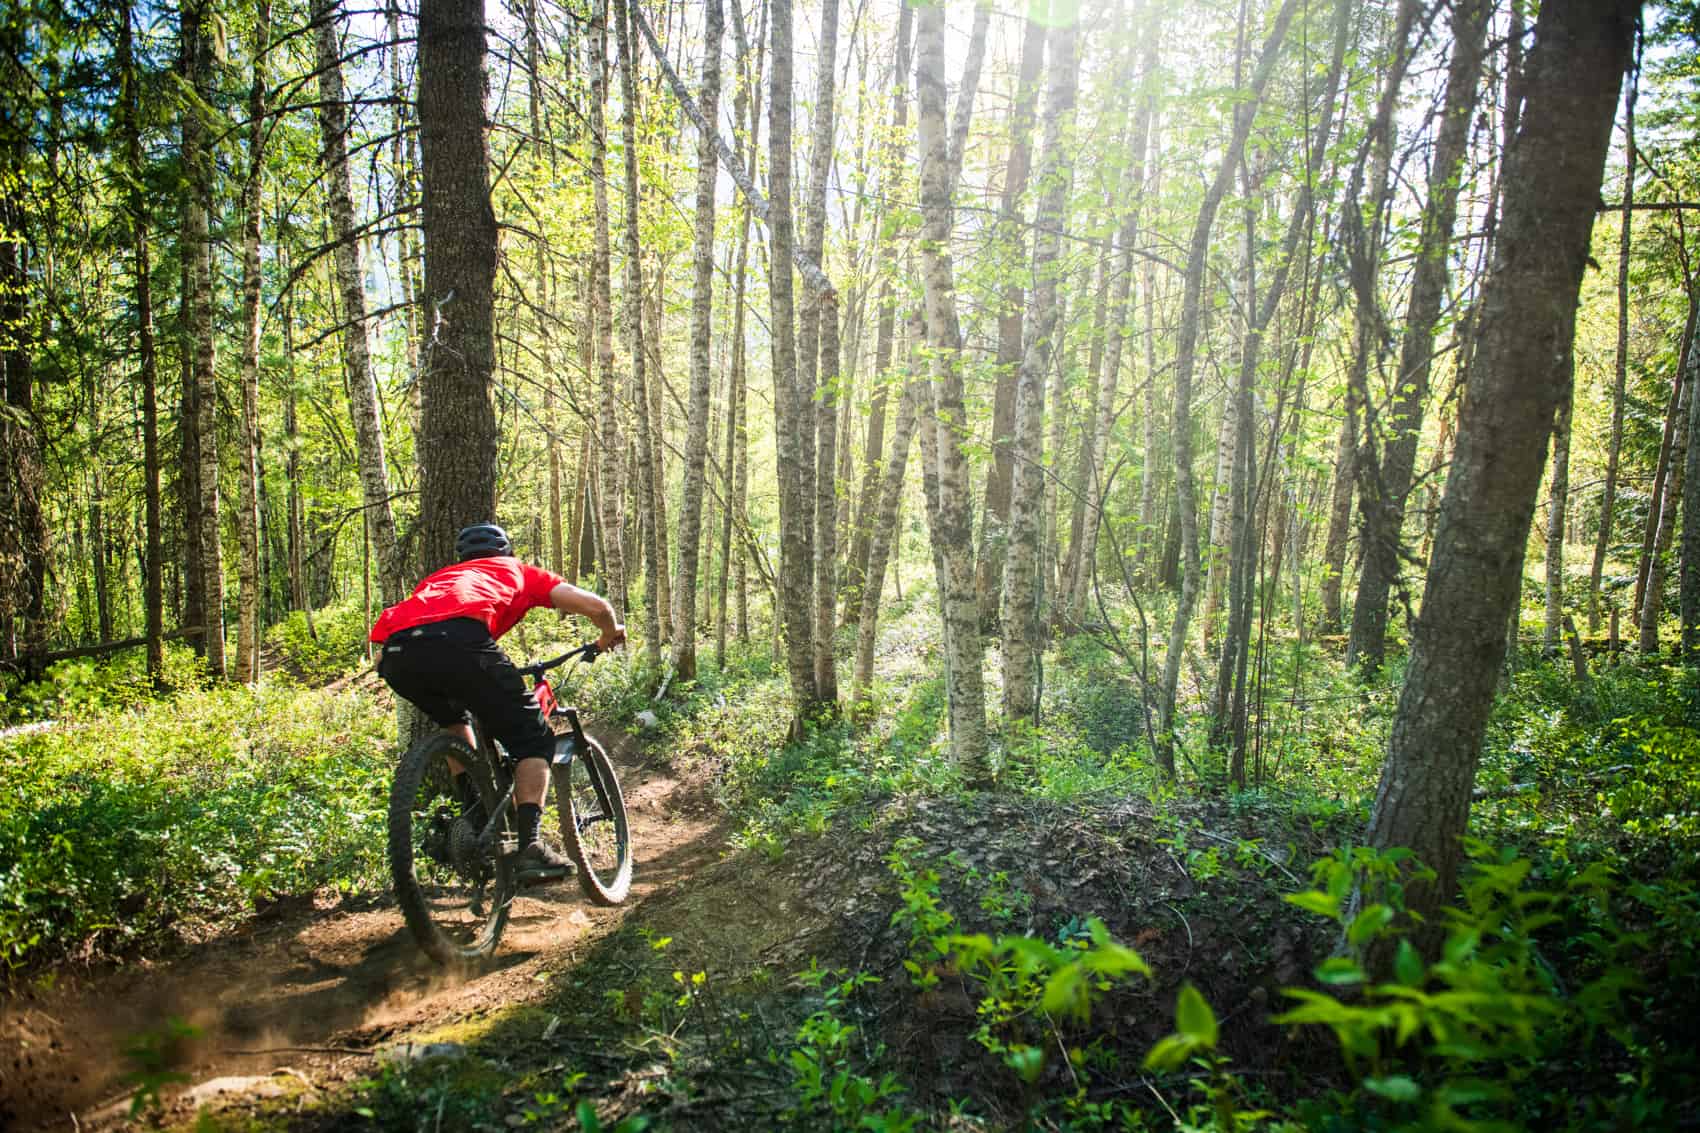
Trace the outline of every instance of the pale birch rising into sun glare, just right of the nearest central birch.
{"type": "MultiPolygon", "coordinates": [[[[1051,70],[1046,77],[1044,148],[1037,177],[1044,189],[1034,209],[1034,327],[1015,384],[1015,483],[1003,561],[1003,713],[1010,720],[1032,720],[1039,715],[1039,658],[1044,650],[1039,529],[1046,498],[1046,376],[1056,350],[1057,277],[1062,270],[1059,260],[1074,180],[1076,143],[1069,134],[1074,92],[1080,87],[1078,44],[1078,22],[1057,27],[1051,37],[1051,70]]],[[[1057,459],[1059,454],[1051,456],[1057,459]]]]}

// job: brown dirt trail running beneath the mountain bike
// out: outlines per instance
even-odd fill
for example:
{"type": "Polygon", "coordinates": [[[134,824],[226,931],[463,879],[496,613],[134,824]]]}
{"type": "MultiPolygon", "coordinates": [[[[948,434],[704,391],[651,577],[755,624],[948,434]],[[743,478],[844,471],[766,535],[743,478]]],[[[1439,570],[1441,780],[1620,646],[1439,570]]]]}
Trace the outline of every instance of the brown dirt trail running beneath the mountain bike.
{"type": "Polygon", "coordinates": [[[328,1082],[366,1072],[371,1051],[396,1036],[541,994],[544,971],[682,885],[724,844],[699,784],[639,762],[631,743],[612,755],[636,854],[624,905],[598,908],[576,883],[532,890],[515,902],[496,954],[456,975],[418,951],[388,897],[299,900],[172,961],[27,990],[0,1000],[0,1128],[88,1130],[121,1118],[124,1043],[170,1017],[199,1029],[175,1051],[189,1087],[282,1067],[328,1082]]]}

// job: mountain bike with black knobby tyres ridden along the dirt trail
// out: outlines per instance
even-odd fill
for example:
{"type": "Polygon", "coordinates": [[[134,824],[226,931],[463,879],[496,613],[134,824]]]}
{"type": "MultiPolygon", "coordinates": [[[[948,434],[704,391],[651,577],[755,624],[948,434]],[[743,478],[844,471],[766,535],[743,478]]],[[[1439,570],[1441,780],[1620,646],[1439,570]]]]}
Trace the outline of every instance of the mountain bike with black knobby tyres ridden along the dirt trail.
{"type": "MultiPolygon", "coordinates": [[[[598,905],[626,900],[632,880],[626,798],[607,750],[585,733],[578,709],[556,701],[549,670],[570,660],[590,663],[595,641],[546,662],[520,667],[532,680],[544,718],[556,733],[551,784],[544,800],[544,837],[558,839],[578,866],[585,897],[598,905]],[[554,822],[559,825],[556,827],[554,822]]],[[[513,857],[518,817],[513,759],[473,720],[476,747],[447,732],[418,740],[401,757],[389,789],[389,873],[396,902],[420,948],[439,963],[488,956],[507,927],[518,893],[513,857]],[[461,813],[449,760],[468,769],[488,818],[481,827],[461,813]]]]}

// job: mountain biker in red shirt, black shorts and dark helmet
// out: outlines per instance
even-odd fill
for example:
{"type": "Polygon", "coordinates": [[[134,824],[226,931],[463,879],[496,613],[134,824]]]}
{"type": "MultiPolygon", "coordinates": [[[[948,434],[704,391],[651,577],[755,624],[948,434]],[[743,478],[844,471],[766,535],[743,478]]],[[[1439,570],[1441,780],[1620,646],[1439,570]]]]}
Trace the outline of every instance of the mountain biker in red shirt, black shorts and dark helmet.
{"type": "MultiPolygon", "coordinates": [[[[372,624],[369,638],[384,646],[377,675],[468,747],[473,747],[469,713],[502,740],[517,760],[513,801],[520,852],[515,876],[522,883],[570,876],[573,863],[539,837],[554,733],[536,692],[496,638],[539,606],[588,618],[602,631],[598,650],[624,641],[626,626],[607,599],[513,558],[513,541],[496,524],[462,527],[454,555],[456,563],[427,575],[410,597],[372,624]]],[[[450,759],[449,769],[462,817],[481,828],[483,801],[466,767],[450,759]]]]}

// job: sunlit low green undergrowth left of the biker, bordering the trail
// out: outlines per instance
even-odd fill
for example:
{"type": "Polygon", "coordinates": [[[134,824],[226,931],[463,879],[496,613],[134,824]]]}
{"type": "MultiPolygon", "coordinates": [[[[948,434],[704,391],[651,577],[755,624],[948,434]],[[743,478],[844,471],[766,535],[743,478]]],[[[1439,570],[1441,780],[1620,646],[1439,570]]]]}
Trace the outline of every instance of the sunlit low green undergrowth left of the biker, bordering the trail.
{"type": "Polygon", "coordinates": [[[54,726],[0,740],[7,971],[377,883],[394,723],[371,696],[185,680],[128,706],[56,699],[54,726]]]}

